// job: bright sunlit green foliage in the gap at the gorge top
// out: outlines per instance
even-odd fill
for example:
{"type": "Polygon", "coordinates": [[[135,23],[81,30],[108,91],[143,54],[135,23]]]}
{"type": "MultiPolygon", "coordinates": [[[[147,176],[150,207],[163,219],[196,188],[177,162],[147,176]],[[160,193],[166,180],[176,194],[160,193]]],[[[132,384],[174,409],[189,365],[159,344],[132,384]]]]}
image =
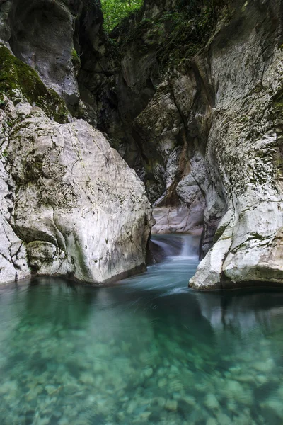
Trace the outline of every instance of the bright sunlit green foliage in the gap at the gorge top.
{"type": "Polygon", "coordinates": [[[139,10],[144,0],[101,0],[105,30],[110,33],[123,18],[139,10]]]}

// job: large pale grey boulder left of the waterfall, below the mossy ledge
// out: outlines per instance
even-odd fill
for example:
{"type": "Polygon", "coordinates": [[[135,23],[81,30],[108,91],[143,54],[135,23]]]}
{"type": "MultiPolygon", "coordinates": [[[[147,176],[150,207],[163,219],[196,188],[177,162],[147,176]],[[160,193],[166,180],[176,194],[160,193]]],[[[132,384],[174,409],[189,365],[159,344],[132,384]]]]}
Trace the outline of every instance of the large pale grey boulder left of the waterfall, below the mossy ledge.
{"type": "MultiPolygon", "coordinates": [[[[100,284],[144,270],[151,208],[143,183],[86,121],[57,123],[27,102],[21,79],[8,86],[13,56],[0,50],[9,95],[0,101],[0,283],[36,273],[100,284]]],[[[28,71],[25,82],[38,82],[28,71]]]]}

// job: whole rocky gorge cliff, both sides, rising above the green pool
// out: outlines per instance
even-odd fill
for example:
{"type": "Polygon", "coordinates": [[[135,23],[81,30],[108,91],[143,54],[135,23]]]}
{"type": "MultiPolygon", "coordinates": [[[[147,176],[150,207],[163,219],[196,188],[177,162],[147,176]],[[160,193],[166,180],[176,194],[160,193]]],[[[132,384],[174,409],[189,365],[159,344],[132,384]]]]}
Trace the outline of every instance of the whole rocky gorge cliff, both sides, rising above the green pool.
{"type": "MultiPolygon", "coordinates": [[[[115,248],[103,245],[103,254],[99,254],[103,278],[99,280],[94,272],[81,273],[80,265],[75,267],[80,270],[78,278],[103,281],[120,276],[125,269],[139,268],[144,264],[150,231],[147,194],[154,206],[154,232],[202,232],[202,261],[190,280],[193,288],[281,284],[281,1],[146,0],[141,11],[123,21],[110,38],[102,23],[95,0],[0,3],[4,55],[0,111],[5,123],[1,133],[5,206],[1,209],[11,233],[3,244],[2,270],[11,267],[11,274],[17,270],[17,276],[20,269],[21,276],[26,276],[30,268],[54,273],[53,266],[38,260],[47,256],[50,264],[56,264],[56,273],[74,273],[71,264],[81,257],[66,254],[69,248],[65,246],[77,253],[78,238],[83,256],[87,251],[91,254],[86,257],[96,261],[94,252],[102,236],[93,244],[86,243],[88,234],[81,237],[82,227],[96,227],[91,218],[87,225],[79,225],[73,242],[66,239],[69,227],[76,229],[81,223],[84,208],[89,212],[101,204],[104,218],[99,232],[93,232],[104,235],[106,229],[113,229],[111,246],[115,248]],[[13,69],[12,79],[9,69],[13,69]],[[43,123],[43,128],[35,123],[43,123]],[[115,150],[110,149],[106,135],[115,150]],[[39,137],[44,141],[38,148],[39,137]],[[51,147],[47,139],[54,137],[57,142],[51,147]],[[101,157],[100,148],[94,146],[97,143],[89,147],[89,138],[98,140],[99,146],[102,143],[101,157]],[[62,140],[67,140],[64,147],[62,140]],[[79,152],[81,146],[86,148],[86,157],[79,152]],[[39,159],[36,149],[40,149],[39,159]],[[61,149],[64,159],[58,156],[61,149]],[[116,151],[144,181],[146,194],[116,151]],[[52,168],[46,177],[50,162],[59,168],[52,168]],[[81,164],[78,169],[77,162],[81,164]],[[62,237],[58,237],[56,222],[56,229],[53,224],[52,229],[46,225],[41,229],[38,222],[53,215],[52,202],[61,196],[66,179],[62,166],[69,170],[67,186],[71,184],[76,202],[56,205],[55,215],[71,213],[68,229],[62,232],[60,222],[62,237]],[[102,191],[111,188],[105,190],[105,198],[93,189],[101,174],[98,186],[102,191]],[[42,182],[53,176],[58,186],[50,193],[42,182]],[[74,181],[81,176],[84,183],[78,188],[74,181]],[[117,179],[116,192],[112,182],[117,179]],[[45,198],[45,191],[47,207],[43,208],[42,201],[34,199],[45,198]],[[117,209],[120,197],[134,205],[130,217],[129,204],[125,210],[117,209]],[[23,205],[25,199],[28,208],[23,205]],[[26,221],[33,224],[26,225],[26,221]],[[134,237],[130,234],[133,228],[134,237]],[[127,234],[126,239],[121,234],[127,234]],[[15,244],[9,242],[13,240],[15,244]],[[37,240],[40,254],[33,246],[37,240]],[[122,244],[127,240],[129,251],[135,246],[139,254],[134,251],[123,270],[117,266],[119,254],[113,261],[113,270],[119,270],[108,273],[107,264],[112,263],[108,259],[121,240],[122,244]],[[63,268],[57,268],[60,256],[67,261],[63,268]],[[15,266],[11,261],[20,257],[28,266],[15,266]]],[[[8,232],[4,230],[4,240],[8,232]]],[[[88,261],[83,264],[92,268],[88,261]]]]}

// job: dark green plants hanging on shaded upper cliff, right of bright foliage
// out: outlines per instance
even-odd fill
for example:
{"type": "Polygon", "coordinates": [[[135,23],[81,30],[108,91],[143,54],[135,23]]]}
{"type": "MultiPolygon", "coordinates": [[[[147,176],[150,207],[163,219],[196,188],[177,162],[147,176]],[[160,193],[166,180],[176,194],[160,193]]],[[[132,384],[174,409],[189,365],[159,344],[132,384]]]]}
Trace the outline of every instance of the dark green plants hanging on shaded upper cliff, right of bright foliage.
{"type": "Polygon", "coordinates": [[[132,41],[141,55],[152,46],[161,69],[175,67],[207,44],[224,10],[228,17],[226,4],[226,0],[178,0],[174,11],[154,18],[125,18],[112,35],[120,38],[121,51],[132,41]]]}

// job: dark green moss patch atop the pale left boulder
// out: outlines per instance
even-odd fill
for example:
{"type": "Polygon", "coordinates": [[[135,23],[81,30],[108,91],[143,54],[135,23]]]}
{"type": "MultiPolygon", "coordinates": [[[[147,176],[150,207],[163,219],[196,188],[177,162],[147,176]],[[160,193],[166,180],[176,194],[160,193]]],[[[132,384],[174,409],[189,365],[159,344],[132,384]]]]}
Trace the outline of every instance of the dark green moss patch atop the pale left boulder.
{"type": "Polygon", "coordinates": [[[14,57],[4,45],[0,45],[0,92],[13,100],[22,94],[49,118],[58,123],[68,121],[68,110],[59,94],[47,89],[35,70],[14,57]]]}

